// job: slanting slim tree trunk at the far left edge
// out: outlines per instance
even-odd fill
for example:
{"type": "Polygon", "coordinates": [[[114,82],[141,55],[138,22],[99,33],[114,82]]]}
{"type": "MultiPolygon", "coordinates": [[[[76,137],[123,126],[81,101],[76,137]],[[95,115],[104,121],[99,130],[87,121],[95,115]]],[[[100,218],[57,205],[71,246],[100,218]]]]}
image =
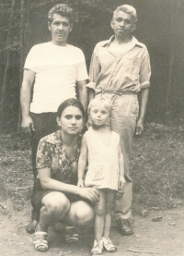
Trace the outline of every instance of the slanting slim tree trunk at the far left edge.
{"type": "Polygon", "coordinates": [[[9,16],[9,26],[8,26],[8,31],[7,31],[7,40],[6,40],[6,46],[7,46],[7,51],[6,51],[6,67],[4,71],[4,78],[3,78],[3,86],[2,86],[2,94],[1,94],[1,103],[0,103],[0,113],[1,116],[3,114],[4,110],[4,105],[6,103],[6,89],[7,89],[7,73],[9,69],[9,64],[10,64],[10,44],[11,44],[11,31],[13,27],[13,21],[14,21],[14,7],[16,4],[16,0],[12,0],[11,2],[11,9],[10,9],[10,16],[9,16]]]}

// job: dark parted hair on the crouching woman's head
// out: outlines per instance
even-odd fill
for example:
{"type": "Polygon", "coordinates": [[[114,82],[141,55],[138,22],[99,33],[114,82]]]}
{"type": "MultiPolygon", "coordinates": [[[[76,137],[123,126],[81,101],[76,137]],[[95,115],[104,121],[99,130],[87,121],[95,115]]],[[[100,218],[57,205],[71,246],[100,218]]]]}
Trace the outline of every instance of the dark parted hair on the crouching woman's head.
{"type": "Polygon", "coordinates": [[[78,109],[80,109],[80,111],[82,112],[83,118],[85,118],[85,109],[84,109],[83,105],[74,98],[68,99],[68,100],[64,101],[62,104],[60,104],[60,106],[58,107],[58,110],[57,110],[57,116],[61,117],[63,114],[63,110],[68,106],[75,106],[78,109]]]}

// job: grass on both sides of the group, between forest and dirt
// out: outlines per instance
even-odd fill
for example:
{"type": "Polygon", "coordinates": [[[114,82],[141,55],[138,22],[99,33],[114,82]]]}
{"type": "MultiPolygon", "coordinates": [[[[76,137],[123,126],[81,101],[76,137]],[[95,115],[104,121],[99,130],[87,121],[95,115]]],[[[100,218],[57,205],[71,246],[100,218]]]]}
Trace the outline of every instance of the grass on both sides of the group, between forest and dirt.
{"type": "MultiPolygon", "coordinates": [[[[0,201],[11,199],[15,209],[29,206],[33,185],[28,140],[17,134],[0,136],[0,201]]],[[[155,123],[132,148],[133,213],[177,207],[184,199],[184,128],[155,123]]]]}

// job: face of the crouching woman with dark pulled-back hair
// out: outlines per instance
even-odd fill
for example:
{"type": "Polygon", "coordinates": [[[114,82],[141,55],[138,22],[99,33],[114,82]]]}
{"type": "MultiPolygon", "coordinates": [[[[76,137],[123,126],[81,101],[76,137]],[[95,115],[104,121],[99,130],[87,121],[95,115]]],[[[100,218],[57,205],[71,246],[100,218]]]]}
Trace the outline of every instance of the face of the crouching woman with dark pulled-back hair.
{"type": "Polygon", "coordinates": [[[57,116],[57,123],[62,128],[63,133],[77,134],[84,127],[82,112],[76,106],[67,106],[63,110],[62,116],[57,116]]]}

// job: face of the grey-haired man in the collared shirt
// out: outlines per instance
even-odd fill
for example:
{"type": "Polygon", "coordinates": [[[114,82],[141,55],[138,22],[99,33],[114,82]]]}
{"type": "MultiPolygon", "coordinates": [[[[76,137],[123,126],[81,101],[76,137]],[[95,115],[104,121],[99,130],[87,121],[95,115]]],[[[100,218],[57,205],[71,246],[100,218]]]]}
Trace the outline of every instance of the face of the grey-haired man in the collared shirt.
{"type": "Polygon", "coordinates": [[[111,20],[111,28],[118,38],[126,39],[136,29],[135,20],[131,14],[119,11],[111,20]]]}

